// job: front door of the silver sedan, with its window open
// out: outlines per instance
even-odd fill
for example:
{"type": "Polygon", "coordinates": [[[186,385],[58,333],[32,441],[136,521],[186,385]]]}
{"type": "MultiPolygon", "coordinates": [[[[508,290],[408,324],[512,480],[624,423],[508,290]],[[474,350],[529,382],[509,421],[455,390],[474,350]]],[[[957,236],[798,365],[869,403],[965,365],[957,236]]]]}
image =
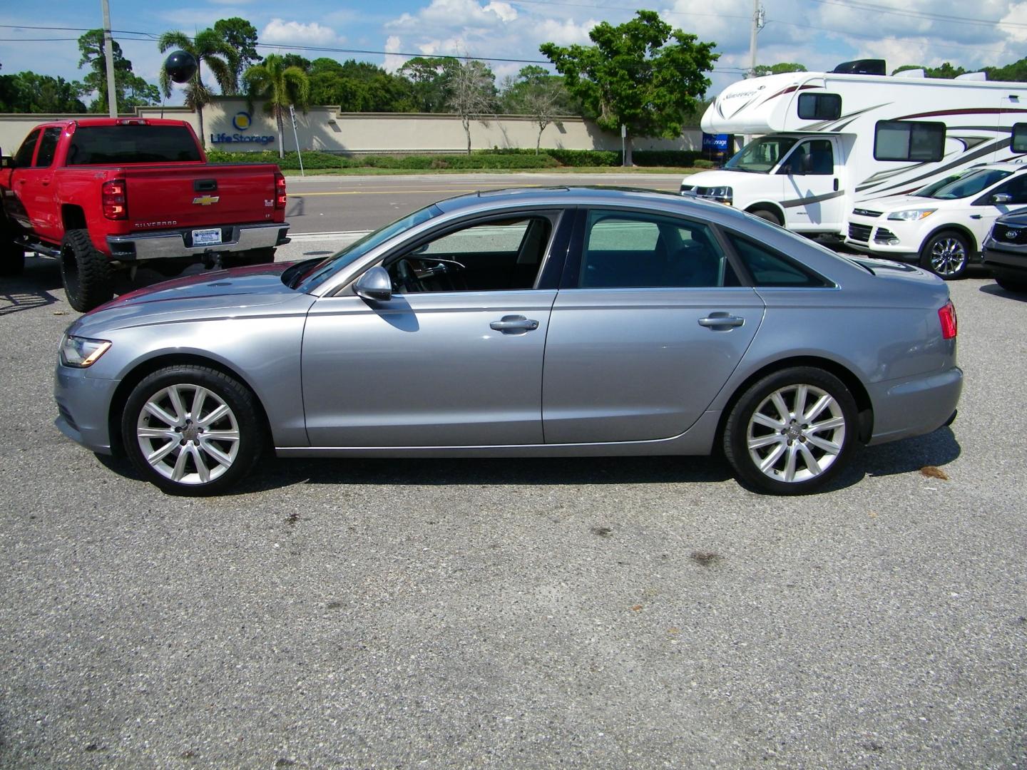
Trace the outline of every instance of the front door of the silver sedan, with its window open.
{"type": "Polygon", "coordinates": [[[303,338],[311,445],[542,444],[560,266],[549,287],[540,276],[562,259],[549,256],[560,220],[549,211],[450,226],[385,257],[390,300],[318,299],[303,338]]]}

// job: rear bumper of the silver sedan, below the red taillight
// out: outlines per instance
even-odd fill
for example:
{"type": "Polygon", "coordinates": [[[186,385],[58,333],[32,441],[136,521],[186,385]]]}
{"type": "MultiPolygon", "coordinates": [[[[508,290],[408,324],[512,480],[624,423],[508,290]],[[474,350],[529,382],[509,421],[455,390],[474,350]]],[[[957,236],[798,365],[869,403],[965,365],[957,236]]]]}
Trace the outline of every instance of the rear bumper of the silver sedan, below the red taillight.
{"type": "Polygon", "coordinates": [[[923,435],[948,425],[962,392],[958,367],[920,377],[890,380],[867,388],[874,405],[870,444],[923,435]]]}

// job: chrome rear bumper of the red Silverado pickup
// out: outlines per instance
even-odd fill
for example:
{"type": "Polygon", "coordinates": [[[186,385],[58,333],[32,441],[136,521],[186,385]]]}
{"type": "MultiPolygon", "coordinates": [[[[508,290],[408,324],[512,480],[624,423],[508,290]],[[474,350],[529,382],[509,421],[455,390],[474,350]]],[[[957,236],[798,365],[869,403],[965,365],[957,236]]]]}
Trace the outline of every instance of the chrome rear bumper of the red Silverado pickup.
{"type": "Polygon", "coordinates": [[[288,222],[268,222],[255,225],[221,226],[221,243],[194,246],[193,230],[214,228],[188,228],[162,230],[157,233],[130,233],[108,235],[107,247],[112,260],[136,262],[139,260],[174,259],[176,257],[202,257],[204,254],[249,252],[252,248],[273,248],[289,242],[288,222]]]}

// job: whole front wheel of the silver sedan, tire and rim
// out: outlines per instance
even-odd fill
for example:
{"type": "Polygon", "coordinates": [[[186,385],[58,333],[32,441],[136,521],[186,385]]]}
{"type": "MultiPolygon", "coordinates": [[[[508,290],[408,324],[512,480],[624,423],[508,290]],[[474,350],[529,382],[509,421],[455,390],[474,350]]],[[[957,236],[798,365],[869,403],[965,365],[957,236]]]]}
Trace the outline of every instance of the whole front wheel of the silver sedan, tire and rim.
{"type": "Polygon", "coordinates": [[[250,473],[268,444],[253,392],[222,372],[197,365],[166,367],[137,385],[121,415],[121,437],[147,480],[168,494],[188,496],[225,492],[250,473]],[[205,392],[194,419],[198,389],[205,392]],[[147,403],[168,419],[147,410],[147,403]],[[204,422],[222,407],[227,408],[222,416],[204,422]]]}

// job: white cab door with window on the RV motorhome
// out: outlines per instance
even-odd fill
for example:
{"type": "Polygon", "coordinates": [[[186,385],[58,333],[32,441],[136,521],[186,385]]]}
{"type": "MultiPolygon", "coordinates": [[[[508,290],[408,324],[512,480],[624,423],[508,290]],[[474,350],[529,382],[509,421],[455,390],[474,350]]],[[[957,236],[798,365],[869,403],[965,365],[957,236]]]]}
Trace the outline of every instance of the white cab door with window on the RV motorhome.
{"type": "Polygon", "coordinates": [[[777,168],[786,177],[787,227],[798,232],[840,232],[845,190],[838,138],[810,137],[796,143],[777,168]]]}

